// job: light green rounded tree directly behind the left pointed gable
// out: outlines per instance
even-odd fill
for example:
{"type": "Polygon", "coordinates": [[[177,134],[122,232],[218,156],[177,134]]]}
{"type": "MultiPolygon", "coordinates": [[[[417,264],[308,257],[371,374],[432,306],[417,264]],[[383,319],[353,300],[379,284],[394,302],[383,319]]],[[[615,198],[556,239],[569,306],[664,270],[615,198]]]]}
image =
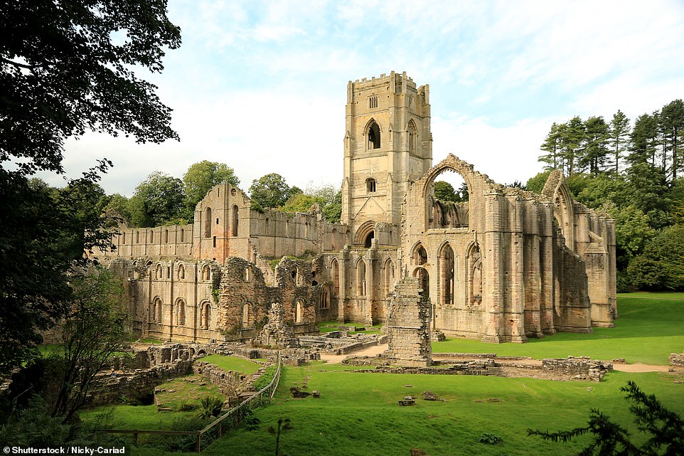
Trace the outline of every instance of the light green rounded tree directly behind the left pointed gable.
{"type": "Polygon", "coordinates": [[[194,216],[197,203],[207,195],[213,186],[223,182],[233,186],[240,184],[240,179],[235,176],[233,168],[224,163],[203,160],[188,168],[186,174],[183,175],[183,189],[186,194],[184,205],[189,220],[192,220],[194,216]]]}

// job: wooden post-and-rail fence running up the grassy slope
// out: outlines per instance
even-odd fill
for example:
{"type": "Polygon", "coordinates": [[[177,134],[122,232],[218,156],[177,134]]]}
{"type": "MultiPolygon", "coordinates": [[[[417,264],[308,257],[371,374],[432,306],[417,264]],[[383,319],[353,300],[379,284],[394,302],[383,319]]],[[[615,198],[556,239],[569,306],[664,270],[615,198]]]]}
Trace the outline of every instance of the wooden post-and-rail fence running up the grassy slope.
{"type": "Polygon", "coordinates": [[[242,420],[247,418],[252,414],[252,410],[259,408],[271,401],[275,391],[278,388],[278,383],[280,382],[280,371],[282,368],[282,363],[280,360],[280,354],[277,358],[278,368],[271,380],[271,382],[264,386],[256,393],[252,394],[249,398],[242,401],[236,407],[231,408],[228,412],[220,415],[213,422],[207,425],[201,430],[184,431],[184,430],[139,430],[139,429],[106,429],[100,430],[102,433],[116,433],[116,434],[132,434],[133,443],[137,445],[139,442],[140,435],[156,435],[158,437],[173,437],[173,438],[185,438],[192,440],[194,445],[188,445],[188,449],[191,446],[192,450],[198,453],[203,452],[209,445],[211,445],[216,440],[220,439],[224,433],[228,430],[237,428],[242,420]],[[194,438],[193,438],[194,436],[194,438]]]}

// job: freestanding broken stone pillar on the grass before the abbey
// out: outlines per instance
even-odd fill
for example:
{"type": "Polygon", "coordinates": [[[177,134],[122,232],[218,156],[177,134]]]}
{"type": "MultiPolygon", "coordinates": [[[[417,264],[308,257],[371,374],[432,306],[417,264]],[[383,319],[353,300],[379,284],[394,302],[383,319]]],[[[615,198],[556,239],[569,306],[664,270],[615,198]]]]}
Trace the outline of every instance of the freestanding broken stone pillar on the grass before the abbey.
{"type": "Polygon", "coordinates": [[[420,282],[406,277],[395,287],[388,315],[389,348],[385,356],[400,366],[429,366],[432,364],[430,345],[431,303],[418,290],[420,282]]]}

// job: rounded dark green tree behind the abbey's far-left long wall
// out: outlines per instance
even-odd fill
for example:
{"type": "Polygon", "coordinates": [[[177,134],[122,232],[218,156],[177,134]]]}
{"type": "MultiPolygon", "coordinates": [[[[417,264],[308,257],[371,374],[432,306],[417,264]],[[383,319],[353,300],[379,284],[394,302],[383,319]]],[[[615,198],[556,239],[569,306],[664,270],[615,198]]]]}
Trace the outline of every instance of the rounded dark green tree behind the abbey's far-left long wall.
{"type": "Polygon", "coordinates": [[[154,171],[136,187],[131,198],[132,223],[143,228],[176,223],[184,199],[181,179],[154,171]]]}

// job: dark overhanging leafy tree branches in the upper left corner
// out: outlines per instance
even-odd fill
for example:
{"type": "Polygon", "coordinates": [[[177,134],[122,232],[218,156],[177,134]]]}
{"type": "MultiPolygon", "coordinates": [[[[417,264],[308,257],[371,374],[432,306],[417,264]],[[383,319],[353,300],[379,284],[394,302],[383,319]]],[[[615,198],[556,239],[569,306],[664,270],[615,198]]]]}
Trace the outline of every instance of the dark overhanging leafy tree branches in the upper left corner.
{"type": "Polygon", "coordinates": [[[132,69],[159,73],[164,48],[180,46],[166,0],[3,1],[0,29],[0,162],[62,171],[64,139],[87,129],[178,139],[132,69]]]}

